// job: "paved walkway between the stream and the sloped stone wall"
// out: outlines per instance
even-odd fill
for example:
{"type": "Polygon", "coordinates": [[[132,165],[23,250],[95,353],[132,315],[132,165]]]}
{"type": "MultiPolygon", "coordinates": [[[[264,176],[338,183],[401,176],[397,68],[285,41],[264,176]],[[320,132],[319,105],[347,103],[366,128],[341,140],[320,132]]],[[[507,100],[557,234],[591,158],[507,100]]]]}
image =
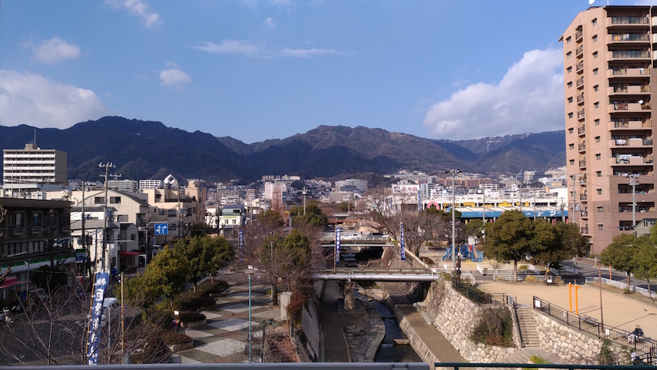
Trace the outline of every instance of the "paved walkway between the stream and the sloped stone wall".
{"type": "MultiPolygon", "coordinates": [[[[380,284],[383,284],[385,290],[390,295],[393,302],[395,302],[406,320],[440,362],[466,362],[465,358],[461,356],[459,351],[454,349],[454,346],[445,339],[443,334],[438,331],[435,326],[427,323],[427,320],[425,320],[422,314],[418,312],[417,308],[413,306],[413,302],[411,302],[399,289],[398,283],[380,284]]],[[[431,365],[433,367],[433,364],[431,365]]]]}

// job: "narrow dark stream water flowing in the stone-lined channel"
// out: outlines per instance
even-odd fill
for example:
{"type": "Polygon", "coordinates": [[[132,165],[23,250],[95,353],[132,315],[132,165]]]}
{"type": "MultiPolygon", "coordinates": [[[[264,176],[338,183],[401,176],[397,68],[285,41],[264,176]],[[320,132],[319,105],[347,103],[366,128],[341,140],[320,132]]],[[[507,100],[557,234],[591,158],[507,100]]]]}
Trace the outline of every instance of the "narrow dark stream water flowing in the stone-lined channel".
{"type": "Polygon", "coordinates": [[[407,339],[400,329],[397,320],[385,304],[373,302],[376,311],[383,317],[385,337],[379,350],[376,351],[374,362],[422,362],[420,356],[410,345],[395,344],[396,339],[407,339]]]}

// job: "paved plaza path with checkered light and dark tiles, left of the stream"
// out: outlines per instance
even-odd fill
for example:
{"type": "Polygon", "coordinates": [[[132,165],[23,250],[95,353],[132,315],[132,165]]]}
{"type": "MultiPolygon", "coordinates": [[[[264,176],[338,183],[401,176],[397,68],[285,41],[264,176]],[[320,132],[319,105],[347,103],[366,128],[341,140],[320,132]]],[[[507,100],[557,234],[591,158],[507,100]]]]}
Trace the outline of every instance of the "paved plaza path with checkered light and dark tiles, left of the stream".
{"type": "MultiPolygon", "coordinates": [[[[269,286],[251,288],[252,337],[262,336],[264,320],[280,321],[280,308],[271,306],[269,286]]],[[[194,348],[174,354],[174,363],[248,362],[248,286],[234,285],[215,299],[216,306],[203,311],[207,324],[180,332],[192,337],[194,348]]],[[[252,353],[259,353],[257,348],[252,353]]],[[[259,362],[252,355],[252,362],[259,362]]]]}

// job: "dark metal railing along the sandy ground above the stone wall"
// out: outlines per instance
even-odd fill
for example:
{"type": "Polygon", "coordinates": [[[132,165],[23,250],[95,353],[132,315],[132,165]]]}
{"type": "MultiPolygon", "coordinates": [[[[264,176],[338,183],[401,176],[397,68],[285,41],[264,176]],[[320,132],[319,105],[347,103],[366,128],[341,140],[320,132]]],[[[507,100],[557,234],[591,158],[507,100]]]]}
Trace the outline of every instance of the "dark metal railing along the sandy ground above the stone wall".
{"type": "Polygon", "coordinates": [[[553,317],[555,320],[571,326],[579,331],[595,335],[602,339],[623,347],[632,349],[641,358],[647,358],[649,364],[657,363],[657,341],[647,337],[633,338],[631,332],[624,329],[614,328],[609,325],[602,325],[597,319],[586,315],[577,315],[570,311],[564,310],[559,306],[550,304],[544,299],[534,296],[533,306],[535,309],[542,311],[546,315],[553,317]]]}

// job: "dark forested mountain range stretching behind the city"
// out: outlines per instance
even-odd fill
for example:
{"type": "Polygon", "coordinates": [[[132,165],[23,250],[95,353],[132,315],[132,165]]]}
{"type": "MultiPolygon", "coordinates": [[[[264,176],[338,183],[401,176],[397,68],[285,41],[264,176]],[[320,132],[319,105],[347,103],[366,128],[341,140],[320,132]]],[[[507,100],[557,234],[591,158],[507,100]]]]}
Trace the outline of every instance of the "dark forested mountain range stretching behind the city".
{"type": "Polygon", "coordinates": [[[262,175],[346,178],[400,169],[429,174],[544,172],[566,163],[565,131],[473,140],[435,140],[367,127],[320,126],[284,139],[246,144],[230,137],[166,127],[162,122],[104,117],[68,129],[0,126],[0,149],[34,142],[68,154],[68,178],[97,180],[111,162],[122,178],[201,178],[248,183],[262,175]]]}

